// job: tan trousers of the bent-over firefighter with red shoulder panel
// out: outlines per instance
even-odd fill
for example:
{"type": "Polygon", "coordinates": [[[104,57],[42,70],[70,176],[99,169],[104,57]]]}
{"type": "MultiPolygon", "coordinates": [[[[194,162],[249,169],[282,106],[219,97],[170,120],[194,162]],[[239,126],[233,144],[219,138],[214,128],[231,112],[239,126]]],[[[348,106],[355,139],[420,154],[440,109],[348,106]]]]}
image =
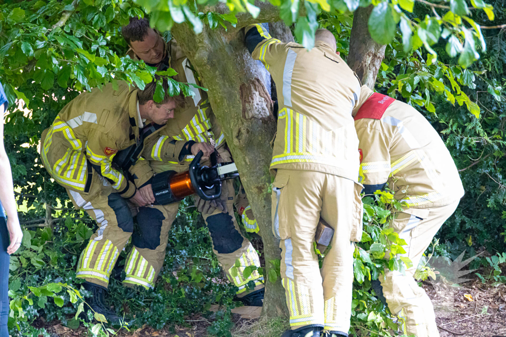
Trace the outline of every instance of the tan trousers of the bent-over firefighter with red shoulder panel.
{"type": "Polygon", "coordinates": [[[404,256],[413,262],[413,267],[407,269],[405,275],[387,269],[385,275],[379,276],[379,280],[388,307],[399,317],[400,327],[406,335],[439,336],[432,302],[413,275],[432,238],[455,212],[457,205],[458,201],[446,206],[408,209],[406,212],[410,214],[401,212],[393,222],[392,227],[407,243],[404,256]]]}

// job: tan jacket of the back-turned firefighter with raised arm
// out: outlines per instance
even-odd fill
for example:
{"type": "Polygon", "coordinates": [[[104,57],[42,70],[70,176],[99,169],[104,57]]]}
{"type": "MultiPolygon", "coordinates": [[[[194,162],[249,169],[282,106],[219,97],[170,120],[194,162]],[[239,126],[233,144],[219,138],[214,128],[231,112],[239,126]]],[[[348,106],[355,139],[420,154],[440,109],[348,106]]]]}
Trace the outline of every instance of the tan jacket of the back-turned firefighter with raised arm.
{"type": "Polygon", "coordinates": [[[271,169],[320,171],[357,181],[358,139],[351,112],[360,81],[346,62],[324,42],[308,51],[271,38],[260,25],[246,28],[246,44],[276,83],[279,113],[271,169]]]}

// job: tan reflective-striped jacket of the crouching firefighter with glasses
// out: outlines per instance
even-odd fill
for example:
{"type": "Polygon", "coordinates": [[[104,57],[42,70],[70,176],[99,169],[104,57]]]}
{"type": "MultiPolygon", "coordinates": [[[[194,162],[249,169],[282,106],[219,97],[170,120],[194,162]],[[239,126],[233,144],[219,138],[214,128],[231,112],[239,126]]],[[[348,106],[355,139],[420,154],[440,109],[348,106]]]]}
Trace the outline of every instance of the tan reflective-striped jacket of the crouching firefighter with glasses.
{"type": "MultiPolygon", "coordinates": [[[[146,161],[139,160],[130,169],[135,182],[112,165],[118,151],[139,139],[137,91],[126,82],[119,81],[118,90],[109,83],[102,90],[81,93],[60,111],[43,132],[40,149],[44,166],[60,185],[93,195],[110,184],[121,197],[130,198],[136,185],[151,178],[153,172],[146,161]],[[97,174],[100,179],[94,178],[97,174]]],[[[148,136],[148,141],[155,135],[148,136]]]]}

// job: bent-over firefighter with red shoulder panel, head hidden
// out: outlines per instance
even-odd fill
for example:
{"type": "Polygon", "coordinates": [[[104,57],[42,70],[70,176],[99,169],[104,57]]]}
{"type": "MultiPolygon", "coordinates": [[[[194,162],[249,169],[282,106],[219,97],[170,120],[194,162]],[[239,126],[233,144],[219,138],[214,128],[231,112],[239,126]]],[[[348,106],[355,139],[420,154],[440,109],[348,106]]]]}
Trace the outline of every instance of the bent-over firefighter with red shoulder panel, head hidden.
{"type": "MultiPolygon", "coordinates": [[[[411,106],[362,86],[353,111],[360,141],[359,181],[366,195],[388,186],[409,208],[392,227],[407,243],[413,267],[380,276],[390,311],[404,334],[437,337],[431,300],[413,278],[421,256],[464,194],[457,169],[441,137],[411,106]]],[[[373,284],[376,293],[381,286],[373,284]]]]}

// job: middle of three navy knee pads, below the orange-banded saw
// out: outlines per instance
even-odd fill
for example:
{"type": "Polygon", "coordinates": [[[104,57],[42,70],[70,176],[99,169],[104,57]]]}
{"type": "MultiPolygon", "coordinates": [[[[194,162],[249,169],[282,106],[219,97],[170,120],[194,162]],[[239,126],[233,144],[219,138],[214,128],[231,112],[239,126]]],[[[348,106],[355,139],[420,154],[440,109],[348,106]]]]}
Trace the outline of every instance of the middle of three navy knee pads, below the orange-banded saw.
{"type": "Polygon", "coordinates": [[[141,207],[137,214],[139,231],[132,235],[132,243],[138,248],[156,249],[160,246],[161,226],[165,216],[160,210],[141,207]]]}

